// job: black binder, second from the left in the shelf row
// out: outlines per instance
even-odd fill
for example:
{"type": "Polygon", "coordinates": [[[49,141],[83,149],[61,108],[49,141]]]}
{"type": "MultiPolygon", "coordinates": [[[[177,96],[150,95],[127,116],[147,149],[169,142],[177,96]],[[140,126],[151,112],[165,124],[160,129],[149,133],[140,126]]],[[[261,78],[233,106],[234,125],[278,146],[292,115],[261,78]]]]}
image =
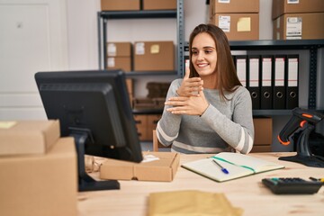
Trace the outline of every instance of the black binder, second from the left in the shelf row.
{"type": "Polygon", "coordinates": [[[251,94],[252,109],[260,109],[260,56],[247,56],[247,90],[251,94]]]}

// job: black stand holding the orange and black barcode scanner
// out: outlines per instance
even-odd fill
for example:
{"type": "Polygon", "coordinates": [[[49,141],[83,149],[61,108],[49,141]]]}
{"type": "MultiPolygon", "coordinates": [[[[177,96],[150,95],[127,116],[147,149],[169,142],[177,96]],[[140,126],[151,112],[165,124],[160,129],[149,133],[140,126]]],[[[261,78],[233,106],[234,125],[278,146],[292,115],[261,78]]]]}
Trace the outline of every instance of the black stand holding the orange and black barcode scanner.
{"type": "Polygon", "coordinates": [[[286,160],[312,167],[324,167],[324,157],[311,154],[309,139],[311,130],[314,130],[312,124],[307,123],[305,130],[302,130],[297,140],[297,154],[290,157],[279,157],[280,160],[286,160]]]}

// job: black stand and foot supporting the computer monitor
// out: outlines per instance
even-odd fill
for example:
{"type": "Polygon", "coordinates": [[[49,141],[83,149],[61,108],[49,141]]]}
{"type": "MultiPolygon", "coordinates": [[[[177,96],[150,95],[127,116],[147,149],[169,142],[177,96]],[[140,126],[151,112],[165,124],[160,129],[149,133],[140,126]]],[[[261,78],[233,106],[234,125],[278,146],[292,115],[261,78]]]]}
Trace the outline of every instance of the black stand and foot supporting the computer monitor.
{"type": "Polygon", "coordinates": [[[88,130],[73,131],[70,136],[74,137],[77,153],[77,173],[78,173],[78,191],[101,191],[117,190],[120,184],[116,180],[96,181],[85,172],[85,141],[91,139],[91,133],[88,130]]]}

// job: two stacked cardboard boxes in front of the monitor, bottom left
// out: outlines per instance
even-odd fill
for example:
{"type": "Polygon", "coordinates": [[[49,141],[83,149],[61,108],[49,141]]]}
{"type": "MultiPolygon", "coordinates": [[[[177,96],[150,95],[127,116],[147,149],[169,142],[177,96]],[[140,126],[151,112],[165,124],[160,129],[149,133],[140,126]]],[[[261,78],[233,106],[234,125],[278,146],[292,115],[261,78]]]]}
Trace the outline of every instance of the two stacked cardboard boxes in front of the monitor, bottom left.
{"type": "Polygon", "coordinates": [[[76,215],[73,138],[58,121],[0,121],[0,215],[76,215]]]}

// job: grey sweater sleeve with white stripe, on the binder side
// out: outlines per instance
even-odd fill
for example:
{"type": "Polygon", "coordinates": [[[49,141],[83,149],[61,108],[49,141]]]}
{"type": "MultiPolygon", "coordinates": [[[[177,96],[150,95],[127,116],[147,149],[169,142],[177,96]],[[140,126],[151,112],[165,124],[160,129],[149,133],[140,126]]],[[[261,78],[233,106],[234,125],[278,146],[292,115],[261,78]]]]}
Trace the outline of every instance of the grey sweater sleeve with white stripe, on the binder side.
{"type": "Polygon", "coordinates": [[[237,91],[238,93],[232,98],[232,119],[229,119],[211,104],[203,112],[201,118],[229,146],[235,148],[240,153],[247,154],[252,149],[254,141],[252,102],[246,88],[239,87],[237,91]]]}

